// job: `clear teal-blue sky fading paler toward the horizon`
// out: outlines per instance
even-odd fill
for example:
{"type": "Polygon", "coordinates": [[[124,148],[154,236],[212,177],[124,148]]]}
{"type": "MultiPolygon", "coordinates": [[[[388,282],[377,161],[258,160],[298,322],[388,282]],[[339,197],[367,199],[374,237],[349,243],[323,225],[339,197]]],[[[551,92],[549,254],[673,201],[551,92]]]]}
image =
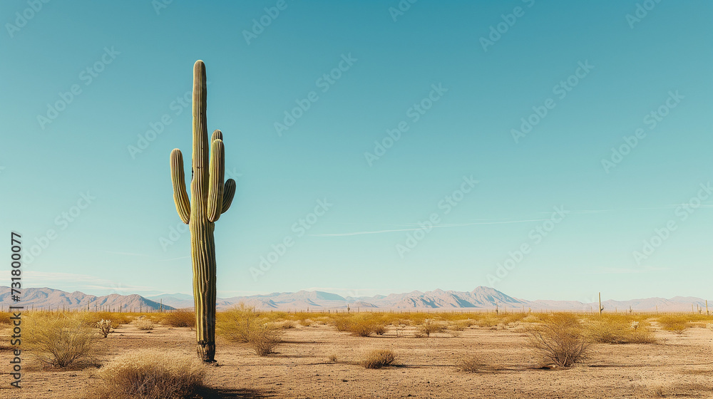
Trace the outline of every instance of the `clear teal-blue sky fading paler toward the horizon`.
{"type": "Polygon", "coordinates": [[[26,286],[190,294],[169,154],[190,175],[202,59],[219,296],[711,296],[710,1],[37,3],[0,2],[26,286]]]}

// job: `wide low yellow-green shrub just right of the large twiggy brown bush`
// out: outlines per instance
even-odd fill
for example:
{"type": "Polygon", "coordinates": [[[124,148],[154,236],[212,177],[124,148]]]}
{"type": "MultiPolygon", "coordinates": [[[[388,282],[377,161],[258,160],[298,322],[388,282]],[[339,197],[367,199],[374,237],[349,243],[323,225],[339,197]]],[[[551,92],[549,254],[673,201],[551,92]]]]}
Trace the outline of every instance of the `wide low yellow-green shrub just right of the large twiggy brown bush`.
{"type": "Polygon", "coordinates": [[[590,321],[585,333],[598,343],[655,343],[656,337],[647,323],[626,318],[601,316],[590,321]]]}

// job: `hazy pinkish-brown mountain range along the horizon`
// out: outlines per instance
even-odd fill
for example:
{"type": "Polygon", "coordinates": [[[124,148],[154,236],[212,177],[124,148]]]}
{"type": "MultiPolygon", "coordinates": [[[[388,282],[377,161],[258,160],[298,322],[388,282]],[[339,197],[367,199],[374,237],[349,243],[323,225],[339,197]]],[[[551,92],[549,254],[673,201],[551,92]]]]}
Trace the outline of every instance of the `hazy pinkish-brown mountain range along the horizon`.
{"type": "MultiPolygon", "coordinates": [[[[79,291],[68,293],[57,289],[31,288],[22,292],[20,303],[35,309],[113,309],[119,307],[124,311],[157,310],[163,302],[163,309],[183,309],[193,307],[193,296],[186,294],[162,294],[144,298],[136,294],[93,296],[79,291]]],[[[493,310],[498,309],[532,309],[533,311],[591,311],[598,309],[598,303],[583,303],[580,301],[528,301],[503,294],[496,289],[479,286],[473,291],[411,291],[404,294],[389,294],[376,296],[340,296],[324,291],[275,292],[265,295],[234,296],[217,299],[218,309],[228,309],[240,303],[255,306],[264,310],[327,310],[327,309],[364,309],[389,310],[440,309],[451,311],[493,310]]],[[[0,286],[0,306],[4,309],[14,302],[11,301],[9,287],[0,286]]],[[[691,296],[675,296],[671,299],[647,298],[630,301],[608,300],[602,302],[605,311],[691,311],[700,307],[705,311],[704,299],[691,296]]],[[[713,301],[711,301],[713,311],[713,301]]]]}

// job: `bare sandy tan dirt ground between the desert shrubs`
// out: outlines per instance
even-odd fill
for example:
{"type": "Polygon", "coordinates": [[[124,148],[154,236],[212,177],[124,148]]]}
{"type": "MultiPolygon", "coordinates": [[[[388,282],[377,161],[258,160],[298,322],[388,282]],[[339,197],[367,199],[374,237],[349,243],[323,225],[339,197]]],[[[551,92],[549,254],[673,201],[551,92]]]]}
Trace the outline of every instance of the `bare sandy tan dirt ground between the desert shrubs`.
{"type": "MultiPolygon", "coordinates": [[[[124,325],[103,340],[98,356],[106,361],[140,348],[193,354],[194,334],[124,325]]],[[[208,367],[206,382],[215,398],[713,398],[713,332],[707,328],[656,331],[656,344],[598,344],[585,363],[569,369],[538,368],[518,327],[471,327],[458,337],[401,335],[388,330],[359,338],[332,326],[298,326],[270,357],[219,339],[219,366],[208,367]],[[396,366],[356,365],[372,349],[394,351],[396,366]],[[337,363],[328,360],[332,354],[337,363]],[[461,356],[476,356],[483,370],[458,371],[461,356]]],[[[25,370],[23,388],[11,388],[10,355],[0,351],[3,399],[81,398],[98,384],[86,371],[25,370]]]]}

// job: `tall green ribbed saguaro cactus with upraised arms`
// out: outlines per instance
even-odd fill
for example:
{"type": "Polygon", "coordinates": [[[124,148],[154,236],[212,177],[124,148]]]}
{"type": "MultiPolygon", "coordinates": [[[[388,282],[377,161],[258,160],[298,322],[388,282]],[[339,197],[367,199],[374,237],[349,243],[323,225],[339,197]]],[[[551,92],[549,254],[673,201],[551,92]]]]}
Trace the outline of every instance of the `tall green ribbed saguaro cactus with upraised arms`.
{"type": "Polygon", "coordinates": [[[173,201],[178,216],[190,230],[190,254],[193,261],[193,301],[198,357],[215,361],[215,242],[213,227],[220,214],[230,208],[235,195],[235,180],[223,184],[225,147],[222,133],[215,130],[208,142],[205,121],[205,64],[193,65],[193,176],[190,200],[185,190],[183,154],[171,152],[173,201]],[[210,147],[210,162],[208,160],[210,147]]]}

